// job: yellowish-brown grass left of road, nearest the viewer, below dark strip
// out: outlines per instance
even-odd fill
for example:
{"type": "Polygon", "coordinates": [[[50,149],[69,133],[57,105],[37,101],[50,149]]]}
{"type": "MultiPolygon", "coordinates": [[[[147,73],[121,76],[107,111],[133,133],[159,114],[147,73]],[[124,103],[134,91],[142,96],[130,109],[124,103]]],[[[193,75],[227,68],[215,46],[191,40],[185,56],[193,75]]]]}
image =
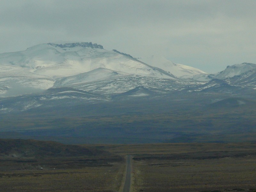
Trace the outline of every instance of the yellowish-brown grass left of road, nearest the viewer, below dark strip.
{"type": "Polygon", "coordinates": [[[108,167],[48,171],[12,171],[0,173],[1,192],[89,191],[111,192],[120,188],[120,164],[108,167]]]}

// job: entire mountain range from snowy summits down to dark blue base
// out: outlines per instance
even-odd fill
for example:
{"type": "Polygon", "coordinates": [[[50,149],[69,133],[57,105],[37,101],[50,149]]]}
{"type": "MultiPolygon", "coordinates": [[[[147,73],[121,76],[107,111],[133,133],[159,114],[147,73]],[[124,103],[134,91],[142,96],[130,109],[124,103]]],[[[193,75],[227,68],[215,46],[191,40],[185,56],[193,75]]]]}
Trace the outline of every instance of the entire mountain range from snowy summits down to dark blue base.
{"type": "Polygon", "coordinates": [[[251,139],[255,106],[252,63],[206,74],[84,42],[0,54],[2,137],[17,132],[74,143],[220,142],[225,134],[240,138],[247,130],[251,139]]]}

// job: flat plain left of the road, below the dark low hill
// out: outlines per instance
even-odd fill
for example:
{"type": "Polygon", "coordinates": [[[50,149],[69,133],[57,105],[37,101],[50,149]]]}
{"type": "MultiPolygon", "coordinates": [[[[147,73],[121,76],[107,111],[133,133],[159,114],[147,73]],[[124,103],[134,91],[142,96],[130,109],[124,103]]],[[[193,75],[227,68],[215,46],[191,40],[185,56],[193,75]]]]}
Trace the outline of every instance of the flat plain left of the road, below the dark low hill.
{"type": "Polygon", "coordinates": [[[125,160],[105,153],[77,157],[0,156],[1,192],[114,192],[122,190],[125,160]],[[43,170],[41,170],[41,167],[43,170]]]}

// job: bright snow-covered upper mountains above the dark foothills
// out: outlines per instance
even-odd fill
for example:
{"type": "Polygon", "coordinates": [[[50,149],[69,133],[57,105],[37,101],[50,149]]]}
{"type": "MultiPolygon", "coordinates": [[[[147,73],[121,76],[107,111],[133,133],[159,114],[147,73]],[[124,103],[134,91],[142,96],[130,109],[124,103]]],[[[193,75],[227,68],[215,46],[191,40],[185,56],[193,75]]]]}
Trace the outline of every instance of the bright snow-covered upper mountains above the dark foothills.
{"type": "MultiPolygon", "coordinates": [[[[245,83],[239,76],[256,68],[255,64],[242,63],[228,66],[216,74],[206,74],[196,68],[174,64],[163,57],[152,56],[141,60],[143,62],[129,54],[108,51],[102,45],[86,42],[39,44],[25,51],[2,53],[0,97],[38,93],[58,87],[110,96],[139,86],[172,91],[184,86],[206,84],[212,79],[228,79],[228,84],[242,86],[245,83]]],[[[253,71],[250,74],[252,76],[253,71]]],[[[246,75],[242,76],[245,78],[246,75]]]]}

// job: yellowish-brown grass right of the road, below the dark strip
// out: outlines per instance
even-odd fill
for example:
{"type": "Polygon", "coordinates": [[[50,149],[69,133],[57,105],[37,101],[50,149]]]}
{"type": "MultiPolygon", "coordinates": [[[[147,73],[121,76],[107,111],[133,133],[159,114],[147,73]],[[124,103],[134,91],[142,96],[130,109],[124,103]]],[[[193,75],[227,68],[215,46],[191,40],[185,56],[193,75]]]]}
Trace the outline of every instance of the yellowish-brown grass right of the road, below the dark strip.
{"type": "Polygon", "coordinates": [[[135,161],[136,191],[250,191],[255,165],[249,157],[135,161]]]}

